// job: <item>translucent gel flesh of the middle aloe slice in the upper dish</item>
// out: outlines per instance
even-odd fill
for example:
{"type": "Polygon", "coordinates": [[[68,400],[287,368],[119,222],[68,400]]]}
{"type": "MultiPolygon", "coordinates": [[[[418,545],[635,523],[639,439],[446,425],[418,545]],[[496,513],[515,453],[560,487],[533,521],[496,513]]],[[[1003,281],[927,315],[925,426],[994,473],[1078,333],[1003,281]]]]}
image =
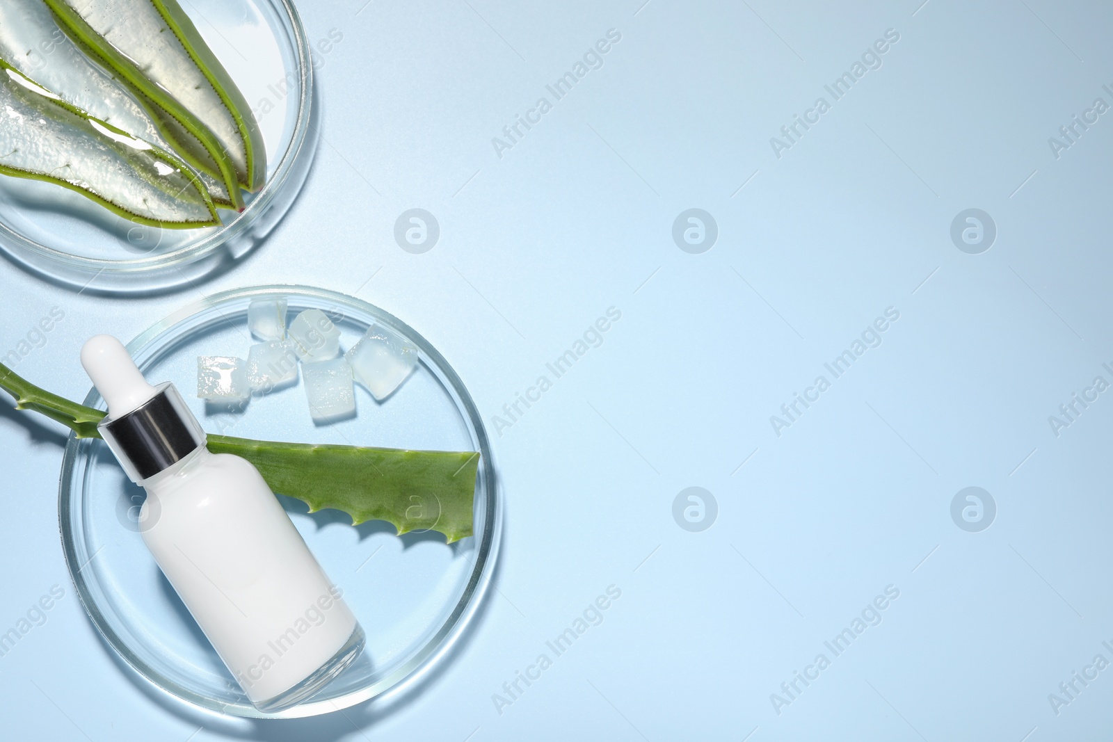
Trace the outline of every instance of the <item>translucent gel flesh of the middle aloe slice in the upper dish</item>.
{"type": "MultiPolygon", "coordinates": [[[[46,3],[0,2],[0,58],[90,116],[162,149],[174,149],[150,111],[128,92],[126,83],[90,60],[59,29],[46,3]]],[[[210,175],[219,174],[219,168],[204,148],[201,155],[208,160],[207,168],[198,168],[201,182],[216,204],[230,207],[227,187],[210,175]]]]}

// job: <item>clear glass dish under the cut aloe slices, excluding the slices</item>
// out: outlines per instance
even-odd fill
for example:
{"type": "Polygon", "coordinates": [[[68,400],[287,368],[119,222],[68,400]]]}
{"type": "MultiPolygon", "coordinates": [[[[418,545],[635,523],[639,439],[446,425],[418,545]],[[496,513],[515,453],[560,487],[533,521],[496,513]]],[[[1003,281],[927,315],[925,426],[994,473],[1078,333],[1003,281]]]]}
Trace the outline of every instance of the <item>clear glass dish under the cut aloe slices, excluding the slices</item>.
{"type": "MultiPolygon", "coordinates": [[[[204,229],[137,225],[52,184],[0,177],[0,249],[88,293],[144,294],[194,281],[242,258],[282,219],[308,175],[313,52],[290,0],[181,3],[255,111],[267,178],[240,214],[204,229]]],[[[329,47],[325,47],[329,48],[329,47]]]]}

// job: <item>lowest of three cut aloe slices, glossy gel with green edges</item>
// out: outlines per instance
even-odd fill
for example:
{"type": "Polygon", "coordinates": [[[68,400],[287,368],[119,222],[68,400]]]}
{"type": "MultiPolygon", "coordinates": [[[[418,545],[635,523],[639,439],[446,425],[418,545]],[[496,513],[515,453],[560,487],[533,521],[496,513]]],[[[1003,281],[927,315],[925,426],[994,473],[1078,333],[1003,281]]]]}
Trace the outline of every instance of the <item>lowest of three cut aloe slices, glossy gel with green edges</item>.
{"type": "Polygon", "coordinates": [[[136,224],[219,224],[197,176],[168,151],[89,116],[0,59],[0,174],[57,184],[136,224]]]}

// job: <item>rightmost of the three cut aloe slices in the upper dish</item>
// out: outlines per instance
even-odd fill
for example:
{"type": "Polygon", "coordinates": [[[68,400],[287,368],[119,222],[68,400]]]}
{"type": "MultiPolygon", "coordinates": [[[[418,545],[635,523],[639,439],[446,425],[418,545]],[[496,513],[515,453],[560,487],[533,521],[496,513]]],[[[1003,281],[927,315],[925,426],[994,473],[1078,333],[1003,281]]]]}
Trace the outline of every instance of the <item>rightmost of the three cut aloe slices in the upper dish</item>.
{"type": "Polygon", "coordinates": [[[144,95],[203,139],[162,98],[168,93],[196,116],[232,160],[243,188],[263,186],[266,155],[258,122],[177,0],[46,1],[102,63],[112,71],[125,72],[120,67],[127,66],[140,72],[142,80],[134,83],[144,95]],[[115,53],[106,53],[106,44],[115,53]]]}

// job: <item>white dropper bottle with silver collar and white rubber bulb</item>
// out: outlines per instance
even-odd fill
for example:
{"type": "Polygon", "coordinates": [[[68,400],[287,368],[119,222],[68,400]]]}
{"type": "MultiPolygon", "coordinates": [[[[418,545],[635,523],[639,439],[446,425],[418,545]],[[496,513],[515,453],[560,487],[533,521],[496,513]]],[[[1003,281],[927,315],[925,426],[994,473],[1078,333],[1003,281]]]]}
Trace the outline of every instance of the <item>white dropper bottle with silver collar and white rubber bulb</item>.
{"type": "Polygon", "coordinates": [[[147,491],[142,540],[247,698],[275,712],[314,695],[364,633],[263,476],[209,452],[174,385],[148,384],[115,337],[81,365],[108,403],[101,437],[147,491]]]}

